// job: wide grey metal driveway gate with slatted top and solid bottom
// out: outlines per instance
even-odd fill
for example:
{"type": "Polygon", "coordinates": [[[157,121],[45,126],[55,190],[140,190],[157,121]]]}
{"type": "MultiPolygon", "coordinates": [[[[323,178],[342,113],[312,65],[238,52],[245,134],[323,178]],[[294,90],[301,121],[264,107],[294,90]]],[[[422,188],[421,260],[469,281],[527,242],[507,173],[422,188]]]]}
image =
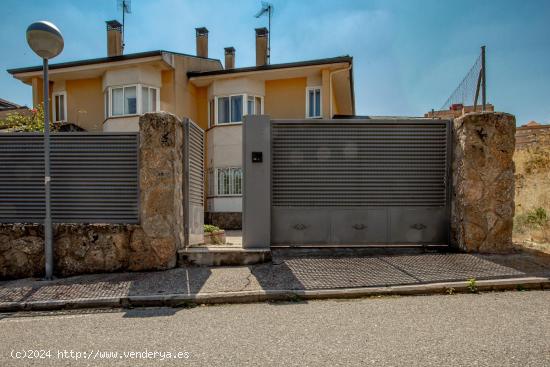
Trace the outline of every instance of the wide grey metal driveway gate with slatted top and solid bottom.
{"type": "Polygon", "coordinates": [[[271,245],[448,244],[450,121],[271,121],[271,245]]]}

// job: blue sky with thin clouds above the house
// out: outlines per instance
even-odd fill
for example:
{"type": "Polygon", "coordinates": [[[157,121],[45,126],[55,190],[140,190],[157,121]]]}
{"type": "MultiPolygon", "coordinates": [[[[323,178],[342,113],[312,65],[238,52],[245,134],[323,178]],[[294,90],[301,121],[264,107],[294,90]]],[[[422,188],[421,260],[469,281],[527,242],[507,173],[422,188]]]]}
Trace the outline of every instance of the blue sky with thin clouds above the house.
{"type": "MultiPolygon", "coordinates": [[[[550,123],[550,1],[273,0],[272,63],[349,54],[356,110],[421,115],[439,108],[487,45],[487,95],[497,110],[550,123]]],[[[195,52],[198,26],[209,52],[236,48],[237,67],[254,64],[258,0],[133,0],[125,53],[195,52]]],[[[3,0],[0,98],[30,105],[31,88],[8,68],[38,65],[25,41],[36,20],[57,24],[65,49],[52,63],[106,56],[105,20],[120,19],[116,0],[3,0]]]]}

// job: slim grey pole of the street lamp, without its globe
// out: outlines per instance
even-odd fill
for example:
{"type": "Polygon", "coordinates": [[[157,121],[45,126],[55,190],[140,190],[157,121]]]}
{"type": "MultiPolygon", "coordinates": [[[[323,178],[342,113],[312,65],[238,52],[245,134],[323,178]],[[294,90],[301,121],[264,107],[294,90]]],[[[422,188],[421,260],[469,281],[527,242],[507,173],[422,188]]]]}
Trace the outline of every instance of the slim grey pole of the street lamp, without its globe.
{"type": "Polygon", "coordinates": [[[53,278],[52,216],[50,206],[50,88],[48,81],[48,59],[44,60],[44,192],[46,213],[44,217],[44,257],[46,280],[53,278]]]}

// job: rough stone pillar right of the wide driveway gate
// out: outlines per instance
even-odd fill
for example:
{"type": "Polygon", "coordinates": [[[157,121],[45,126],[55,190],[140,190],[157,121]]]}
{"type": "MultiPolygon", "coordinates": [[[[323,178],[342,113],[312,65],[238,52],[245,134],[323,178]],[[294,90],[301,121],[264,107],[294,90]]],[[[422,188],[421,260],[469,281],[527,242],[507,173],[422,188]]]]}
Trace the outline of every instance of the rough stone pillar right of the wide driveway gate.
{"type": "Polygon", "coordinates": [[[516,120],[469,113],[453,122],[452,244],[467,252],[512,249],[516,120]]]}

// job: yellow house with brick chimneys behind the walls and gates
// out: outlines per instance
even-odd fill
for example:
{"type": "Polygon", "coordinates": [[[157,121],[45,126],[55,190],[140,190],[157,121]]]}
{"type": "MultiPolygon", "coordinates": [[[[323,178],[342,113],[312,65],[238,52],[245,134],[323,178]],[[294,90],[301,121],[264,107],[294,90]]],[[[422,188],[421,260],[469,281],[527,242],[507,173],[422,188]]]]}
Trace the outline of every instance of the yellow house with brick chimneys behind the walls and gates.
{"type": "MultiPolygon", "coordinates": [[[[88,131],[137,131],[139,115],[167,111],[188,117],[206,133],[207,222],[239,228],[242,212],[242,120],[353,115],[352,58],[267,65],[266,28],[256,29],[256,66],[225,68],[208,58],[208,30],[196,28],[197,54],[150,51],[122,54],[121,25],[107,22],[108,57],[50,65],[54,121],[88,131]]],[[[42,67],[8,70],[42,100],[42,67]]]]}

